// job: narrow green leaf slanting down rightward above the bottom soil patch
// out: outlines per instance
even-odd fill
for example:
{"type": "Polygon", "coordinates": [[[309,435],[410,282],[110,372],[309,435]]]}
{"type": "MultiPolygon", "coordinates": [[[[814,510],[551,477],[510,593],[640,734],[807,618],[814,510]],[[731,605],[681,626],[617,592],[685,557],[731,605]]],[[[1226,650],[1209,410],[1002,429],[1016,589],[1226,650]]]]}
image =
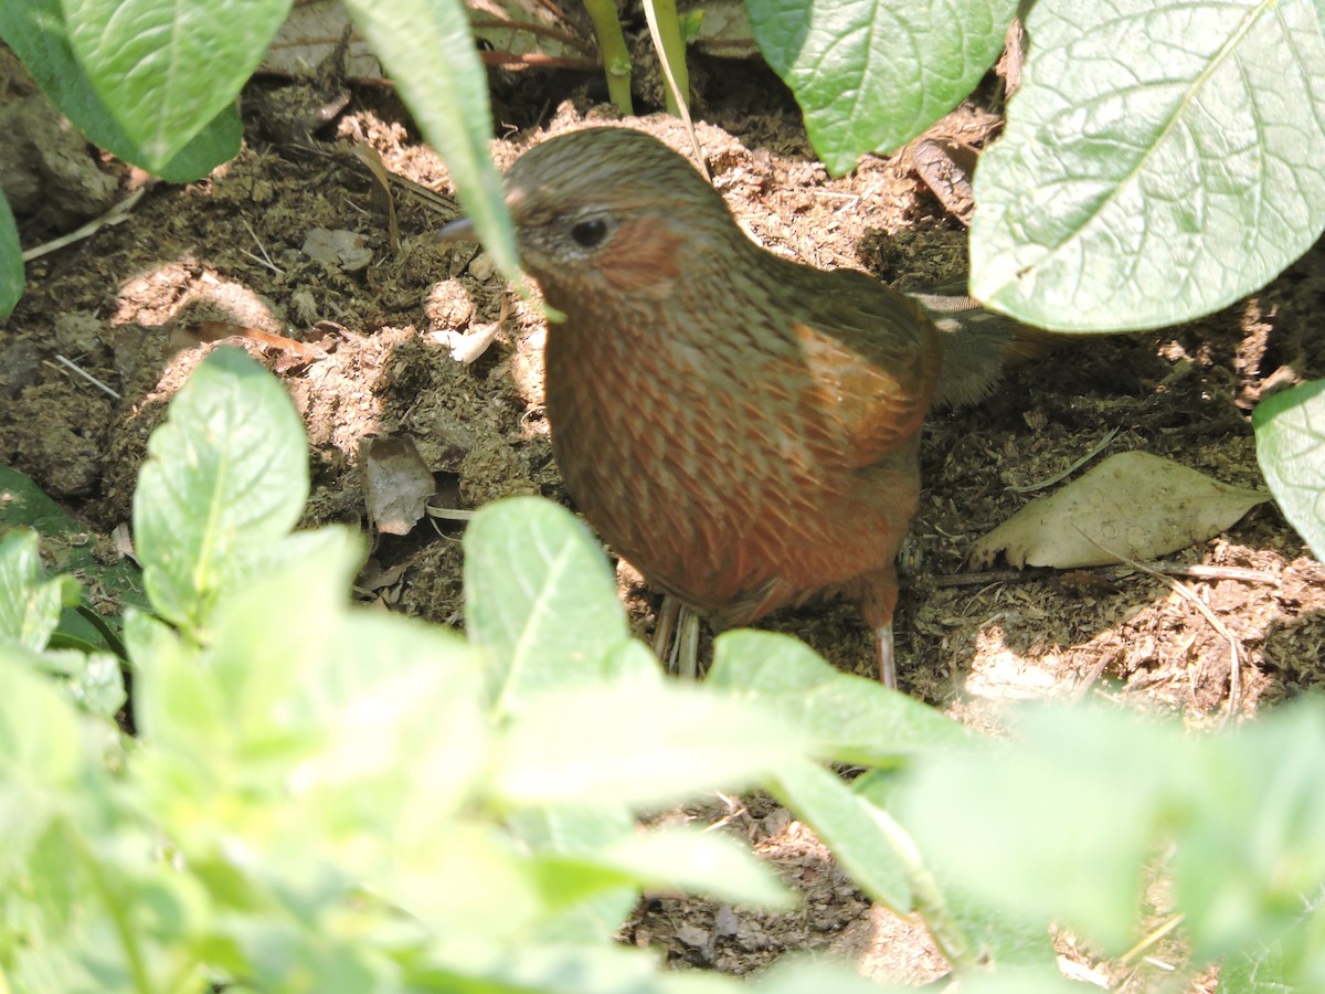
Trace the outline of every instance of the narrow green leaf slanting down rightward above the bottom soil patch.
{"type": "Polygon", "coordinates": [[[908,864],[918,857],[910,851],[905,832],[886,814],[822,766],[804,761],[782,765],[768,789],[815,830],[871,899],[898,914],[913,911],[908,864]]]}

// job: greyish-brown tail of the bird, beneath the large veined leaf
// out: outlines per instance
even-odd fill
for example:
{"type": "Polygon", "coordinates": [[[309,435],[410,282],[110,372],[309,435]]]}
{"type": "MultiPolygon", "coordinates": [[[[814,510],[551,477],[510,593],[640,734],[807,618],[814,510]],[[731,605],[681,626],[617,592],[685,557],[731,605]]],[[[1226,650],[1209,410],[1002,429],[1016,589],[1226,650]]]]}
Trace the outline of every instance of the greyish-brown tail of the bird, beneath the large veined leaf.
{"type": "Polygon", "coordinates": [[[906,290],[943,333],[935,407],[969,407],[990,396],[1003,371],[1057,349],[1065,337],[986,310],[963,284],[906,290]]]}

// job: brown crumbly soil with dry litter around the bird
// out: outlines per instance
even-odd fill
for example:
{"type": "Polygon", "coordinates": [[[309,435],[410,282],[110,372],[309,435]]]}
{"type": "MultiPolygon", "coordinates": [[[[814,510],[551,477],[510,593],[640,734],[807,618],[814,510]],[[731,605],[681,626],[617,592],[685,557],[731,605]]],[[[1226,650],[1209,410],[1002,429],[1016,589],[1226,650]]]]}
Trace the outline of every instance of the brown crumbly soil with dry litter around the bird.
{"type": "MultiPolygon", "coordinates": [[[[962,270],[965,229],[918,180],[905,150],[867,156],[851,176],[829,179],[780,83],[750,66],[731,76],[731,65],[708,64],[701,73],[727,76],[701,97],[698,134],[717,187],[753,237],[782,254],[861,268],[902,286],[962,270]]],[[[8,78],[3,99],[12,121],[30,89],[8,78]]],[[[504,87],[504,137],[493,143],[502,167],[549,131],[615,117],[574,76],[527,76],[504,87]]],[[[547,440],[537,315],[509,294],[478,247],[429,240],[450,217],[445,203],[398,192],[400,244],[392,247],[380,192],[351,150],[371,147],[388,170],[443,200],[450,192],[445,168],[388,90],[355,89],[314,133],[311,151],[272,138],[289,134],[270,127],[273,107],[288,95],[274,82],[254,83],[245,95],[244,151],[186,187],[147,184],[77,140],[52,151],[68,168],[34,179],[0,174],[7,190],[16,182],[40,187],[36,207],[20,208],[25,248],[147,186],[122,223],[28,265],[26,294],[0,331],[0,461],[109,534],[130,517],[146,439],[166,402],[213,347],[199,337],[249,327],[307,346],[244,341],[280,372],[307,424],[314,486],[305,525],[367,527],[362,453],[370,439],[411,440],[433,474],[439,505],[477,508],[527,493],[568,502],[547,440]],[[315,228],[352,236],[327,254],[307,244],[315,228]],[[472,364],[452,358],[457,333],[493,330],[493,345],[472,364]]],[[[631,123],[685,147],[672,118],[631,123]]],[[[995,114],[967,105],[935,131],[983,144],[998,126],[995,114]]],[[[56,139],[34,127],[26,140],[56,139]]],[[[1194,725],[1223,720],[1230,643],[1162,580],[1117,570],[1034,578],[1003,570],[973,580],[963,563],[977,538],[1030,500],[1010,486],[1059,473],[1114,427],[1108,452],[1143,449],[1228,484],[1263,486],[1248,415],[1267,386],[1325,375],[1325,339],[1309,331],[1322,307],[1325,257],[1314,249],[1261,293],[1200,322],[1073,343],[1012,371],[979,407],[935,415],[925,428],[925,490],[904,554],[901,688],[982,726],[996,724],[1012,701],[1084,696],[1174,712],[1194,725]]],[[[450,522],[378,535],[360,595],[458,623],[458,537],[450,522]]],[[[1236,640],[1234,720],[1325,683],[1325,569],[1272,504],[1170,559],[1253,571],[1186,580],[1236,640]]],[[[633,624],[647,635],[657,602],[624,565],[620,578],[633,624]]],[[[767,627],[807,640],[841,669],[873,672],[868,634],[847,606],[806,607],[767,627]]],[[[871,975],[912,983],[945,970],[922,928],[871,907],[812,834],[768,799],[714,802],[686,816],[722,820],[751,839],[806,892],[804,905],[759,916],[656,897],[641,904],[623,941],[662,948],[678,967],[738,974],[796,949],[851,956],[871,975]]],[[[1161,967],[1128,973],[1097,962],[1068,937],[1060,952],[1071,969],[1113,989],[1145,990],[1162,975],[1161,967]]],[[[1167,953],[1178,956],[1177,948],[1167,953]]]]}

